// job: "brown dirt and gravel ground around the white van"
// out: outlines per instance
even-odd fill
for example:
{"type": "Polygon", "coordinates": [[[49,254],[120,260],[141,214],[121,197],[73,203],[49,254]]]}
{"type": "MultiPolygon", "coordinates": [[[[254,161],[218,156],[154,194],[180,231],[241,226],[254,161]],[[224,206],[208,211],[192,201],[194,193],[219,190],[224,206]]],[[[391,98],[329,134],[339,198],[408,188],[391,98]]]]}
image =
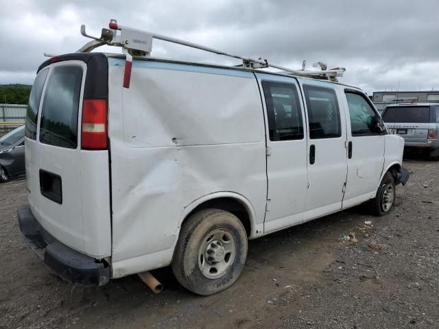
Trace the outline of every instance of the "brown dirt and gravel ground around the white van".
{"type": "Polygon", "coordinates": [[[405,167],[392,214],[359,207],[251,241],[237,283],[210,297],[169,268],[159,295],[137,276],[63,282],[21,238],[25,180],[0,184],[0,328],[439,328],[439,162],[405,167]]]}

